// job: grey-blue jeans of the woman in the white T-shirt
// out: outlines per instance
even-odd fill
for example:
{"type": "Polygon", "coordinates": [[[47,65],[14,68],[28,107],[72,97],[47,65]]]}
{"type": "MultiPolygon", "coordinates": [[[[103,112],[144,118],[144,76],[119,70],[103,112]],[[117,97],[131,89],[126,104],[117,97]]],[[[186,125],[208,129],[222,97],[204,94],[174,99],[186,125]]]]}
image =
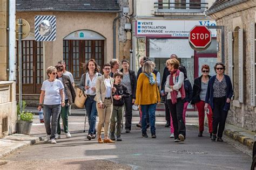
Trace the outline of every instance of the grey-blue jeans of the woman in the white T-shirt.
{"type": "Polygon", "coordinates": [[[61,105],[46,105],[44,104],[44,126],[46,133],[51,135],[50,139],[55,139],[57,133],[58,117],[60,114],[61,105]]]}

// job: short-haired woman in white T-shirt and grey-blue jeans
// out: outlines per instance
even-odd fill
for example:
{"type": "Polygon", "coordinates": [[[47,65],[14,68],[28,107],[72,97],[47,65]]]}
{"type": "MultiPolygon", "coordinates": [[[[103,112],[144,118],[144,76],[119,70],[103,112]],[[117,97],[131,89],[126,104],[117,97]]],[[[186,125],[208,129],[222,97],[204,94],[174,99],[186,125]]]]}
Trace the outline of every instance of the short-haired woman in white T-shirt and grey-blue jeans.
{"type": "Polygon", "coordinates": [[[57,69],[55,67],[48,67],[46,73],[49,79],[42,84],[37,109],[39,111],[42,109],[44,101],[44,125],[47,133],[44,141],[50,140],[52,144],[56,144],[58,117],[61,107],[65,106],[64,86],[60,80],[56,79],[57,69]]]}

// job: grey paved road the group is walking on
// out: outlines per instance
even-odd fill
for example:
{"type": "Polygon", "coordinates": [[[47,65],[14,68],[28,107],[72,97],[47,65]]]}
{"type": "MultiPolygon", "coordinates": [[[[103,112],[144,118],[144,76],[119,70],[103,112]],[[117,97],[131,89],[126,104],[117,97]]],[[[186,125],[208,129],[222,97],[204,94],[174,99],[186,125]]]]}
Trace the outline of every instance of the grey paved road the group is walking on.
{"type": "MultiPolygon", "coordinates": [[[[196,118],[187,118],[185,143],[174,143],[164,118],[157,118],[157,138],[142,138],[140,129],[122,134],[116,144],[98,144],[85,138],[83,119],[74,117],[70,130],[72,138],[43,141],[14,153],[2,160],[1,169],[250,169],[251,157],[229,143],[212,142],[197,137],[192,125],[196,118]],[[5,162],[3,162],[5,161],[5,162]]],[[[133,122],[138,121],[134,118],[133,122]]],[[[33,125],[33,134],[44,136],[44,126],[33,125]]],[[[1,165],[1,162],[0,162],[1,165]]]]}

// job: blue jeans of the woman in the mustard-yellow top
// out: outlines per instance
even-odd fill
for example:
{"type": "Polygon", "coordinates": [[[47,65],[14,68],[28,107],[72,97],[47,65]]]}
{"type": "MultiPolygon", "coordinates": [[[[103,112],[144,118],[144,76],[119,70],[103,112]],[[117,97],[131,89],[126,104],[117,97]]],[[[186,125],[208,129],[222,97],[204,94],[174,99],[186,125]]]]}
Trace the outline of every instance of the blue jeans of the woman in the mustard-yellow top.
{"type": "Polygon", "coordinates": [[[156,108],[157,104],[140,105],[142,107],[142,133],[147,132],[147,115],[149,115],[151,134],[156,134],[156,108]]]}

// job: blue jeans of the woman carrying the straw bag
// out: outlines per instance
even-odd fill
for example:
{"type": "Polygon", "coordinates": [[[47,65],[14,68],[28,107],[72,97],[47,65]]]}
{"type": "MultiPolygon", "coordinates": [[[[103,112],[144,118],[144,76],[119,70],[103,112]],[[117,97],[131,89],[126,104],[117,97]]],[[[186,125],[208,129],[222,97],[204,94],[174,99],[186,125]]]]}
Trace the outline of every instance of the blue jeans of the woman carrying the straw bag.
{"type": "Polygon", "coordinates": [[[88,116],[89,122],[89,131],[88,134],[96,134],[95,125],[96,125],[96,116],[97,116],[97,109],[96,109],[96,101],[93,100],[93,96],[87,97],[84,103],[86,113],[88,116]]]}

